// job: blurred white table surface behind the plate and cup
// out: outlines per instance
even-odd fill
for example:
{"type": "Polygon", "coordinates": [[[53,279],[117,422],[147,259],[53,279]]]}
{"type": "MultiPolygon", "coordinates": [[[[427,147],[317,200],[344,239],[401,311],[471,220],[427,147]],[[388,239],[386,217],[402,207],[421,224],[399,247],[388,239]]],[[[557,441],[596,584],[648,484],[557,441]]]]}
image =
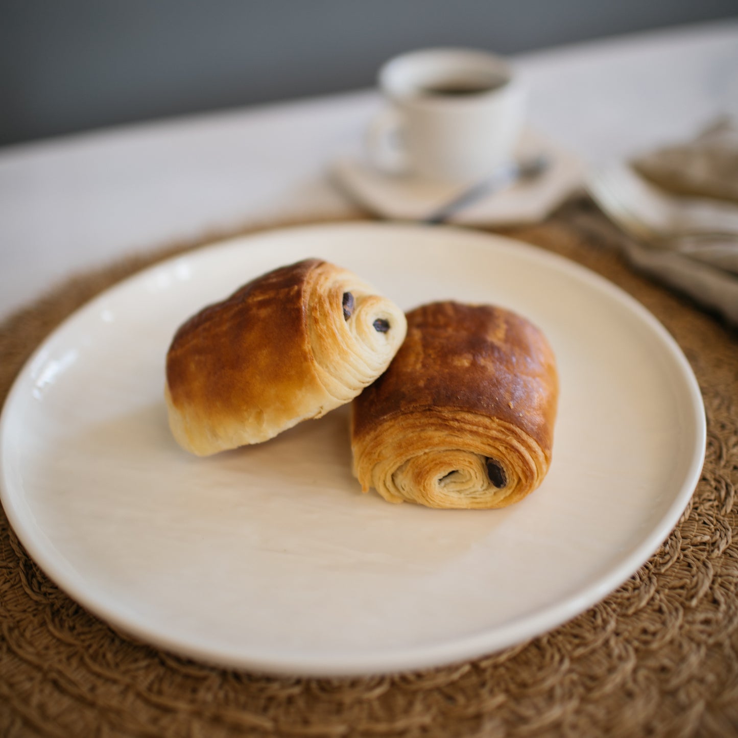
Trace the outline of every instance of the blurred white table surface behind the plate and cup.
{"type": "MultiPolygon", "coordinates": [[[[585,163],[738,115],[738,18],[520,55],[528,122],[585,163]]],[[[328,181],[374,90],[0,149],[0,317],[126,252],[279,218],[349,215],[328,181]]]]}

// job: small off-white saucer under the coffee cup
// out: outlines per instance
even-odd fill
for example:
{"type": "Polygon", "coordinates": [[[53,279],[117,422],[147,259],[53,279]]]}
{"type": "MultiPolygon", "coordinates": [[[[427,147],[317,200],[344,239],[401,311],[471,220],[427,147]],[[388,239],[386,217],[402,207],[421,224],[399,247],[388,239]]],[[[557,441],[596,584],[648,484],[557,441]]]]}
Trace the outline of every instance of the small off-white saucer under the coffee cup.
{"type": "MultiPolygon", "coordinates": [[[[450,221],[497,227],[542,221],[582,187],[584,167],[576,156],[526,128],[517,145],[516,158],[525,159],[538,154],[545,154],[551,162],[541,176],[489,193],[459,210],[450,221]]],[[[362,207],[383,218],[398,221],[421,221],[466,188],[418,176],[383,172],[358,156],[337,159],[331,166],[331,176],[337,186],[362,207]]]]}

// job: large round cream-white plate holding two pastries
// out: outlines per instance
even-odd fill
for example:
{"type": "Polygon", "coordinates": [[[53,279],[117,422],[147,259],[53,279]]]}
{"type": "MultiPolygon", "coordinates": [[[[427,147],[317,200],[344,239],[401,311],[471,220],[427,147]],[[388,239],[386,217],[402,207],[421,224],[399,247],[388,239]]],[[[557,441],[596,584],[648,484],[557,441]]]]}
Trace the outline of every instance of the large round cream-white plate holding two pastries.
{"type": "Polygon", "coordinates": [[[491,235],[341,224],[215,244],[97,297],[21,372],[0,434],[13,528],[89,610],[206,661],[356,675],[492,652],[607,595],[677,523],[705,421],[675,342],[607,280],[491,235]],[[212,458],[176,446],[162,387],[177,325],[311,255],[403,308],[484,301],[545,331],[561,395],[537,492],[499,511],[362,494],[345,408],[212,458]]]}

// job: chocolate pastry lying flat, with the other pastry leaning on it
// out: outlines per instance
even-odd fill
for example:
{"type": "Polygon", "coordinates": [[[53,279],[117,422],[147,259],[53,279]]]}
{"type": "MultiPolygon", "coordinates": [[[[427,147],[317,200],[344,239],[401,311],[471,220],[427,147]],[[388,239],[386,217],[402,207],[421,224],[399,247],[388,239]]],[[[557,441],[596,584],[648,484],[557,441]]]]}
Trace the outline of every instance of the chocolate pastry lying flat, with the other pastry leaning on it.
{"type": "Polygon", "coordinates": [[[510,505],[548,472],[558,393],[553,351],[522,317],[416,308],[390,368],[352,405],[354,475],[393,503],[510,505]]]}

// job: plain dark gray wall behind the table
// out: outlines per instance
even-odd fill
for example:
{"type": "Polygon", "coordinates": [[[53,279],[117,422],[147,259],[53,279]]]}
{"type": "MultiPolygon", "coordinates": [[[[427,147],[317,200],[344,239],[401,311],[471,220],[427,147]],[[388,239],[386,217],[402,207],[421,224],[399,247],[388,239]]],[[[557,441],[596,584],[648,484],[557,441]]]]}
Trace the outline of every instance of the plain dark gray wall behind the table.
{"type": "Polygon", "coordinates": [[[0,145],[367,87],[418,46],[508,54],[734,15],[737,0],[0,0],[0,145]]]}

